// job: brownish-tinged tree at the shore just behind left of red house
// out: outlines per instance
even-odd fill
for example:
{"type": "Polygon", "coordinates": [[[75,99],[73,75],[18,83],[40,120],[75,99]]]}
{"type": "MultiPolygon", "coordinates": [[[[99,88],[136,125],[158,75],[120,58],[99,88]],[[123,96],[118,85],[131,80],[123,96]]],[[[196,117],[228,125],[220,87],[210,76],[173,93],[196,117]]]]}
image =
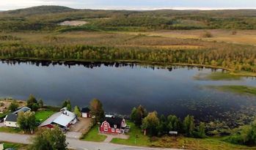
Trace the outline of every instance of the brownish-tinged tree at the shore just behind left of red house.
{"type": "Polygon", "coordinates": [[[89,103],[89,109],[91,110],[92,116],[95,116],[95,121],[102,121],[104,118],[103,105],[98,99],[94,99],[89,103]]]}

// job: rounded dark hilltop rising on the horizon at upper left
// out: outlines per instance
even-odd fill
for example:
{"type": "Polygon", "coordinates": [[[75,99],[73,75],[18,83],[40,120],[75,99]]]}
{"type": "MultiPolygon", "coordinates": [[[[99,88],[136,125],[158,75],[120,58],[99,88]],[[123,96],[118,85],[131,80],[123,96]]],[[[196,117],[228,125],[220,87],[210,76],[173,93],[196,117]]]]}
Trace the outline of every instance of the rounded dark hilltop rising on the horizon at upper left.
{"type": "Polygon", "coordinates": [[[37,14],[45,14],[45,13],[54,13],[54,12],[71,12],[75,9],[69,7],[61,7],[61,6],[39,6],[39,7],[29,7],[19,10],[9,10],[4,13],[12,14],[12,15],[37,15],[37,14]]]}

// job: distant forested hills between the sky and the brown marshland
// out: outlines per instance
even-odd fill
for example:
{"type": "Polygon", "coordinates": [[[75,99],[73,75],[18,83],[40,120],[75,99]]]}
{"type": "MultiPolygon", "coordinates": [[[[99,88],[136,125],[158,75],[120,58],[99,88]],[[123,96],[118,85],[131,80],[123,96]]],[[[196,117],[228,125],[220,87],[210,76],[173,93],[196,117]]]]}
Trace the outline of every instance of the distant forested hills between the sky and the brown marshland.
{"type": "MultiPolygon", "coordinates": [[[[255,10],[75,10],[42,6],[0,12],[0,31],[59,30],[64,20],[87,20],[106,31],[152,29],[256,29],[255,10]],[[138,29],[139,28],[139,29],[138,29]]],[[[87,30],[87,28],[73,28],[87,30]]]]}

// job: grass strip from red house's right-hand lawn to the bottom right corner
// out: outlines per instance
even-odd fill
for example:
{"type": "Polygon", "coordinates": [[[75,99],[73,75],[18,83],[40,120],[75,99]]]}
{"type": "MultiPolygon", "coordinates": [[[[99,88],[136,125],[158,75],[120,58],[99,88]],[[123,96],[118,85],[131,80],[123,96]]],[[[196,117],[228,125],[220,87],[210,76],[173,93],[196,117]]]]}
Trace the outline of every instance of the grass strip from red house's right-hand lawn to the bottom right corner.
{"type": "Polygon", "coordinates": [[[143,135],[143,132],[136,127],[134,123],[128,122],[131,126],[131,130],[128,133],[130,138],[128,140],[113,138],[111,143],[118,143],[130,146],[151,146],[151,147],[166,147],[176,149],[191,149],[191,150],[238,150],[238,149],[256,149],[256,147],[238,146],[235,144],[222,141],[222,138],[186,138],[183,136],[170,137],[164,136],[162,138],[154,138],[150,141],[150,138],[143,135]],[[136,138],[137,135],[137,138],[136,138]],[[136,138],[136,140],[135,140],[136,138]]]}

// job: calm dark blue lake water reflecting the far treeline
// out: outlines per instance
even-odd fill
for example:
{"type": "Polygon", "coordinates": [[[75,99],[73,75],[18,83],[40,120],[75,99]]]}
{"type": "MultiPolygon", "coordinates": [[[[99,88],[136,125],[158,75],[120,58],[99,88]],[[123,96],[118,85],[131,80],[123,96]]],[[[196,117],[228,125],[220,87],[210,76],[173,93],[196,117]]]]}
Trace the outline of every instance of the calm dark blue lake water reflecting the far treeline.
{"type": "Polygon", "coordinates": [[[1,61],[0,97],[26,100],[29,94],[47,105],[87,106],[93,98],[109,113],[129,114],[137,105],[158,113],[187,114],[196,119],[227,119],[238,114],[256,115],[256,97],[216,91],[212,85],[255,86],[255,78],[213,81],[194,76],[222,70],[197,67],[158,69],[136,64],[50,64],[1,61]],[[248,113],[248,114],[247,114],[248,113]]]}

